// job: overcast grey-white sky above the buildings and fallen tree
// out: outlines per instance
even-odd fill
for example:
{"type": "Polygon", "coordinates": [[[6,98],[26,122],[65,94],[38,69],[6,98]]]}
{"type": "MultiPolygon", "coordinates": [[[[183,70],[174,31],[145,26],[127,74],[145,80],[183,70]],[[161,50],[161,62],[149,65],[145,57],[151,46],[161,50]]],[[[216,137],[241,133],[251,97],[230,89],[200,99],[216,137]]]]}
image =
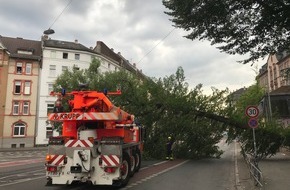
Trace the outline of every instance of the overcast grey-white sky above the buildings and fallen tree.
{"type": "Polygon", "coordinates": [[[164,13],[162,0],[70,1],[0,0],[0,35],[40,40],[51,27],[52,39],[77,39],[87,47],[103,41],[150,77],[169,76],[181,66],[190,87],[201,83],[205,93],[211,87],[234,91],[254,84],[266,61],[243,65],[237,61],[246,57],[184,38],[186,32],[174,29],[164,13]]]}

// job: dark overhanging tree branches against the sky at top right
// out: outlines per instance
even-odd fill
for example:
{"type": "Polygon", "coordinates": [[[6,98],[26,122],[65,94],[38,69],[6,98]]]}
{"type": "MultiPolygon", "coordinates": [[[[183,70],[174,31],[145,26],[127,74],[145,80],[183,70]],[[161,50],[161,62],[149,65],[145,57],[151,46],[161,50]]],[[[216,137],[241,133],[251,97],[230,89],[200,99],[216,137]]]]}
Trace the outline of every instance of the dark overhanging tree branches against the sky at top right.
{"type": "Polygon", "coordinates": [[[289,49],[289,3],[286,1],[163,0],[175,27],[188,31],[186,38],[209,40],[229,54],[250,57],[248,63],[289,49]]]}

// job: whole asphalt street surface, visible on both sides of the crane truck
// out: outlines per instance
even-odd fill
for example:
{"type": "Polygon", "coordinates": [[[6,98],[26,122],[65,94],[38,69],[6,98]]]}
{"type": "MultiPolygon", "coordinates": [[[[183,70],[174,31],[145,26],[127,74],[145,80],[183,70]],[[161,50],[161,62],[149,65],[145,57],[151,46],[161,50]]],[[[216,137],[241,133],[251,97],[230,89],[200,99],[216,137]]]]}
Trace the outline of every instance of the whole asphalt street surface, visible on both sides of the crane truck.
{"type": "MultiPolygon", "coordinates": [[[[143,167],[122,188],[134,190],[234,190],[235,189],[235,144],[219,144],[225,151],[221,159],[174,160],[143,162],[143,167]]],[[[90,190],[112,189],[79,186],[45,186],[42,151],[22,153],[0,152],[0,189],[5,190],[90,190]],[[25,154],[26,156],[24,156],[25,154]]]]}

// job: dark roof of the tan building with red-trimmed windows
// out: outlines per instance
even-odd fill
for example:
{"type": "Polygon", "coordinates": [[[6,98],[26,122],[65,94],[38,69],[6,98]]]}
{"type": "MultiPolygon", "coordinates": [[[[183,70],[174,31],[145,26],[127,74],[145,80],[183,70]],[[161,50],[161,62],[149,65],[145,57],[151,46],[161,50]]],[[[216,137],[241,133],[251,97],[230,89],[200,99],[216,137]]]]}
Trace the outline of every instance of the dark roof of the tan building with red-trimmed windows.
{"type": "Polygon", "coordinates": [[[19,37],[4,37],[0,35],[0,43],[5,46],[12,58],[41,59],[41,41],[27,40],[19,37]],[[30,52],[31,54],[25,52],[30,52]]]}

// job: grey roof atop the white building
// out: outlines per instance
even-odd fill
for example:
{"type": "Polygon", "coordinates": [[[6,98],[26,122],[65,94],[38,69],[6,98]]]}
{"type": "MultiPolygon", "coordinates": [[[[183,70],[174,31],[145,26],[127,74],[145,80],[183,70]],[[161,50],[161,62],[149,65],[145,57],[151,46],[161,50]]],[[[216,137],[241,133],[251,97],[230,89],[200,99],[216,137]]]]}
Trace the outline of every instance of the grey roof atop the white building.
{"type": "Polygon", "coordinates": [[[92,49],[87,48],[86,46],[78,42],[67,42],[67,41],[61,41],[61,40],[47,39],[47,40],[43,40],[43,46],[96,53],[92,49]]]}

